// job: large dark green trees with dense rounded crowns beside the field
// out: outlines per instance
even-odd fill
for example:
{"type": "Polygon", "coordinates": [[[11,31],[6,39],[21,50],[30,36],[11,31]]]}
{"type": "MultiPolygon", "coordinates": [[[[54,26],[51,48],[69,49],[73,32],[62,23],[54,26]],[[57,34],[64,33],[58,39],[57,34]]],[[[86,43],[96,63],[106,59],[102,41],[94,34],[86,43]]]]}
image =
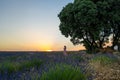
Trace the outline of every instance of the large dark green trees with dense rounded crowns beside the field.
{"type": "Polygon", "coordinates": [[[74,0],[58,14],[59,29],[74,45],[83,44],[89,53],[112,42],[120,51],[120,0],[74,0]]]}

